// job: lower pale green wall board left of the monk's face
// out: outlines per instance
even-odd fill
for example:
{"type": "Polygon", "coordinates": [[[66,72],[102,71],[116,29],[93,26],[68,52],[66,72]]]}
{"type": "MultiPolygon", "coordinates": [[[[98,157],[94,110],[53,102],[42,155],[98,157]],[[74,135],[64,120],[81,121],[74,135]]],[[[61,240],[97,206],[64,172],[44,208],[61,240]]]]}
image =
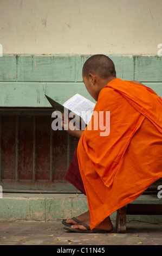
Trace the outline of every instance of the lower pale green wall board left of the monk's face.
{"type": "Polygon", "coordinates": [[[59,103],[64,103],[76,93],[94,101],[84,84],[78,82],[0,82],[0,88],[0,107],[51,107],[45,94],[59,103]]]}

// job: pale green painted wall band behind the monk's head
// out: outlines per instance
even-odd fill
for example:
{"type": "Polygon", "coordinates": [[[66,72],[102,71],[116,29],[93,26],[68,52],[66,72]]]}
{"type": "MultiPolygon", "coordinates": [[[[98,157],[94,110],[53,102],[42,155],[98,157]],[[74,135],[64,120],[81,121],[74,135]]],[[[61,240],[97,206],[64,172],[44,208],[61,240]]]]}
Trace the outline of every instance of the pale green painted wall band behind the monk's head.
{"type": "MultiPolygon", "coordinates": [[[[109,56],[122,80],[137,80],[162,96],[162,59],[158,56],[109,56]]],[[[76,93],[94,101],[82,82],[88,56],[0,57],[0,107],[50,107],[45,94],[60,103],[76,93]]]]}

